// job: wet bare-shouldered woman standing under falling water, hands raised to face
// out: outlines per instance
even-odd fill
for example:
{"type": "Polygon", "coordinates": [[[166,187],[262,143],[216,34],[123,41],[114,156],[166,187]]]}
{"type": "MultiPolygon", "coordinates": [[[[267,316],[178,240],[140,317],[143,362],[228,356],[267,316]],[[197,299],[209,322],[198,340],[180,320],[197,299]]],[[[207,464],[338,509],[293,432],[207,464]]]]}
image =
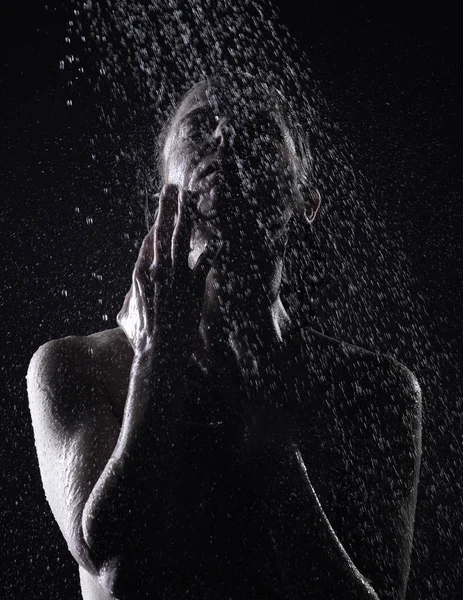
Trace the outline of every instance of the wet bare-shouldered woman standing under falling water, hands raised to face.
{"type": "Polygon", "coordinates": [[[405,596],[419,387],[281,301],[289,231],[320,196],[280,100],[246,77],[190,90],[119,328],[31,361],[85,600],[405,596]]]}

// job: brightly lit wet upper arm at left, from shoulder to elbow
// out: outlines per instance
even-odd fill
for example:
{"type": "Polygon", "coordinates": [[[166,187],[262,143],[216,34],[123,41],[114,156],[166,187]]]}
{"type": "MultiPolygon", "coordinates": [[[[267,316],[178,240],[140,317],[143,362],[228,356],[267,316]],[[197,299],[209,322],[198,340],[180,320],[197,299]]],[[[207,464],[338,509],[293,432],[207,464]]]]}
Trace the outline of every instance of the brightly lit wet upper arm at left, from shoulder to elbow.
{"type": "Polygon", "coordinates": [[[119,425],[91,356],[82,338],[44,344],[30,362],[27,389],[46,498],[70,552],[96,573],[82,535],[82,511],[119,425]]]}

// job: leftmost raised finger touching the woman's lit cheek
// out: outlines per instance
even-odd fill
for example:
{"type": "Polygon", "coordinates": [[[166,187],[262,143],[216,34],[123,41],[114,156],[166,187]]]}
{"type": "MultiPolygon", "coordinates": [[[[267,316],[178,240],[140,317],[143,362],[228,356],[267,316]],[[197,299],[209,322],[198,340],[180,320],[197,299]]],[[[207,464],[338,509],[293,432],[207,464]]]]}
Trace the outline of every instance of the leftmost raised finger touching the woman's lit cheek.
{"type": "Polygon", "coordinates": [[[172,233],[177,211],[177,186],[165,185],[159,197],[159,210],[154,225],[154,262],[155,266],[170,266],[172,233]]]}

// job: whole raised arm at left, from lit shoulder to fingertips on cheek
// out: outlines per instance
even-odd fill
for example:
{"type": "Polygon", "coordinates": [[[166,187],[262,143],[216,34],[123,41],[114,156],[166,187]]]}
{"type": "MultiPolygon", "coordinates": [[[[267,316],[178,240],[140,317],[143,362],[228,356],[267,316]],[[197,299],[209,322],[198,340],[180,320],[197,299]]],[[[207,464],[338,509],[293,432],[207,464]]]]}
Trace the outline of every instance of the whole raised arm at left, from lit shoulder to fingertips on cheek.
{"type": "Polygon", "coordinates": [[[119,330],[118,348],[130,371],[122,423],[106,386],[112,377],[119,380],[117,352],[112,364],[100,352],[108,332],[44,344],[27,376],[50,507],[76,561],[111,593],[122,585],[137,536],[149,530],[156,545],[176,510],[172,486],[180,476],[173,475],[173,465],[181,453],[185,372],[201,286],[214,258],[209,248],[189,269],[183,213],[174,218],[175,209],[162,208],[177,206],[177,197],[172,186],[161,193],[157,223],[142,244],[120,315],[132,343],[130,349],[119,330]]]}

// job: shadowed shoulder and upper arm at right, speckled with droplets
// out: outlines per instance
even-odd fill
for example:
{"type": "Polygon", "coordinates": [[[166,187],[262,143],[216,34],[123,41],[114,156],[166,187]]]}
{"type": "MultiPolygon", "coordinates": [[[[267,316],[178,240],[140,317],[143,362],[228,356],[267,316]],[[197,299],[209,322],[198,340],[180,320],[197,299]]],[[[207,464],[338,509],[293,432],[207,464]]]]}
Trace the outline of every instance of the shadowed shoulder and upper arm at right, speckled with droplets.
{"type": "Polygon", "coordinates": [[[378,596],[403,598],[421,460],[418,382],[385,354],[311,329],[300,339],[295,432],[311,482],[378,596]]]}

